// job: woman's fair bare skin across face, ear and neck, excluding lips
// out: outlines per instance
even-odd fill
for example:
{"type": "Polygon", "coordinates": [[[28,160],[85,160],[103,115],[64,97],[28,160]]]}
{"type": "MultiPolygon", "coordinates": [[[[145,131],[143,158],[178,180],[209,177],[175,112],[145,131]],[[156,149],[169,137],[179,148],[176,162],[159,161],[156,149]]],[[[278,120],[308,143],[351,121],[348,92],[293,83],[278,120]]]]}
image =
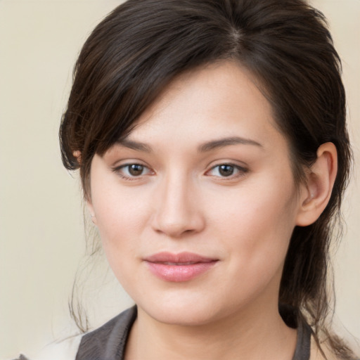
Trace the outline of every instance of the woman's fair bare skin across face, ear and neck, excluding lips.
{"type": "Polygon", "coordinates": [[[89,211],[139,311],[127,359],[292,359],[278,290],[294,227],[319,217],[335,180],[335,146],[318,155],[295,186],[271,105],[246,70],[222,62],[174,79],[126,141],[94,156],[89,211]],[[143,167],[134,175],[131,164],[143,167]],[[160,251],[217,263],[164,281],[143,261],[160,251]]]}

